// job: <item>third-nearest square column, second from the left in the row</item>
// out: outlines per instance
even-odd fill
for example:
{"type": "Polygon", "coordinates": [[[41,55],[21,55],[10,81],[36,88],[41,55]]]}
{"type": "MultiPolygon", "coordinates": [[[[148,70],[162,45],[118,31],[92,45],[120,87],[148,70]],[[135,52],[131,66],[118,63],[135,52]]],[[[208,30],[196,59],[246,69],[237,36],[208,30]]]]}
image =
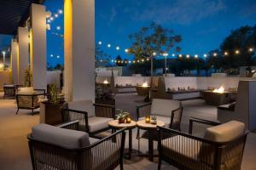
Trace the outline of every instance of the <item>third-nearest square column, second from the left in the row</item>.
{"type": "Polygon", "coordinates": [[[26,27],[18,28],[18,83],[24,83],[25,70],[29,68],[29,37],[26,27]]]}

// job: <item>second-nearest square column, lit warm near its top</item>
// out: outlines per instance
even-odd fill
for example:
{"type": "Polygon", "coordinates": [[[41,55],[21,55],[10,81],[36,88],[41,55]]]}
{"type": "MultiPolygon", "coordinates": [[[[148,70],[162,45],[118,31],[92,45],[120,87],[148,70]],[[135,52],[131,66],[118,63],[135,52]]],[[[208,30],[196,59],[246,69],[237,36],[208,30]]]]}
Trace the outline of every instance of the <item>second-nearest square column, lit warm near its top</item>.
{"type": "Polygon", "coordinates": [[[30,30],[30,64],[34,88],[46,89],[46,11],[44,5],[32,3],[30,30]]]}

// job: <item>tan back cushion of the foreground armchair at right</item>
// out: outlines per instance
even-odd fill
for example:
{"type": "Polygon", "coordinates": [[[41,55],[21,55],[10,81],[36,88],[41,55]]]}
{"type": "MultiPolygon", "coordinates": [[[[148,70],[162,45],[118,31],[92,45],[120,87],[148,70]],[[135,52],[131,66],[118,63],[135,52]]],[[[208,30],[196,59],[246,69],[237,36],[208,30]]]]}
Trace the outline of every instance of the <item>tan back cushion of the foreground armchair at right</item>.
{"type": "Polygon", "coordinates": [[[229,142],[241,136],[245,125],[242,122],[230,121],[224,124],[208,127],[205,133],[205,139],[215,142],[229,142]]]}

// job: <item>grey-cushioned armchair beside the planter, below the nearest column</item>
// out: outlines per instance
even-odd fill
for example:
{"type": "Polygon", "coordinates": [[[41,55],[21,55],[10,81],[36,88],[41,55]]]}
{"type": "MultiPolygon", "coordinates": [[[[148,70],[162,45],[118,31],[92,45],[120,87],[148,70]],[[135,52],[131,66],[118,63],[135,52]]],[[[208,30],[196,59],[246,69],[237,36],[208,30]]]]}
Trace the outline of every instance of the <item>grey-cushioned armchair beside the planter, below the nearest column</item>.
{"type": "Polygon", "coordinates": [[[63,122],[79,120],[79,130],[95,136],[96,133],[110,129],[108,122],[113,120],[115,109],[113,105],[93,104],[91,100],[79,100],[66,103],[61,113],[63,122]]]}

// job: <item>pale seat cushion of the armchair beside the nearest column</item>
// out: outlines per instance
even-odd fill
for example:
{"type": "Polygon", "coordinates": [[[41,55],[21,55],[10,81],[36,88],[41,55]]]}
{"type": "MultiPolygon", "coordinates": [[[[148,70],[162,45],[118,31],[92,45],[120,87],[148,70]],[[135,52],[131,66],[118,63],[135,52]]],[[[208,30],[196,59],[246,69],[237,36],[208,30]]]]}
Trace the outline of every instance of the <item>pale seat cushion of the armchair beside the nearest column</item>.
{"type": "MultiPolygon", "coordinates": [[[[112,118],[106,118],[106,117],[98,117],[93,116],[88,118],[88,126],[89,126],[89,132],[94,133],[98,130],[102,130],[104,128],[108,128],[108,122],[112,121],[112,118]]],[[[85,120],[80,120],[79,122],[80,129],[85,129],[85,120]]]]}

